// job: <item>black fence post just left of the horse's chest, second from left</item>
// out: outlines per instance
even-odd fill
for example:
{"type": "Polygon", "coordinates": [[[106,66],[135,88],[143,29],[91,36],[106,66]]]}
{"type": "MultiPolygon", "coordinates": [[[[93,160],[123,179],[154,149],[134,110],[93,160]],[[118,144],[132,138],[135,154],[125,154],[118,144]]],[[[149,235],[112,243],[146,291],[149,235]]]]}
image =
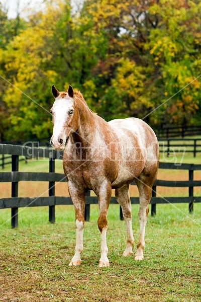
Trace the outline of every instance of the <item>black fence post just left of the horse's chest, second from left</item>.
{"type": "MultiPolygon", "coordinates": [[[[49,172],[50,173],[55,172],[55,158],[51,154],[49,157],[49,172]]],[[[54,181],[49,182],[49,196],[55,196],[55,182],[54,181]]],[[[55,222],[55,205],[49,206],[49,221],[51,223],[55,222]]]]}

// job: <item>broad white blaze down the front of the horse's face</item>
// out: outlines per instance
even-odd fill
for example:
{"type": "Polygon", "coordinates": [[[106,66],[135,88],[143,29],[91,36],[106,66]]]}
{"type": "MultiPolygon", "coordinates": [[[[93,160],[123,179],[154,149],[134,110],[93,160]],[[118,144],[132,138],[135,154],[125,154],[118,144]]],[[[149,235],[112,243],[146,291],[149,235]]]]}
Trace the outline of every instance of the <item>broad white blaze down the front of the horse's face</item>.
{"type": "Polygon", "coordinates": [[[67,135],[69,135],[69,133],[65,133],[65,126],[68,125],[69,111],[73,109],[73,105],[73,100],[68,96],[66,98],[58,97],[53,104],[51,111],[54,127],[51,140],[54,146],[58,144],[59,139],[63,139],[65,142],[67,135]]]}

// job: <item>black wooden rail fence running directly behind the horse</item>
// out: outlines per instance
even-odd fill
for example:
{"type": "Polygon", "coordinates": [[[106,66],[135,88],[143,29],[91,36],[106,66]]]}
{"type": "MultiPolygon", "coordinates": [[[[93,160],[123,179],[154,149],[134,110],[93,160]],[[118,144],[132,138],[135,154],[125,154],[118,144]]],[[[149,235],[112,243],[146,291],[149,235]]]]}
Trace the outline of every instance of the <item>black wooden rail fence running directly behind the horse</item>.
{"type": "MultiPolygon", "coordinates": [[[[49,206],[49,221],[55,222],[55,205],[72,204],[70,197],[55,196],[55,182],[65,182],[63,174],[55,173],[55,160],[62,159],[63,153],[56,152],[50,148],[31,148],[18,145],[0,144],[0,154],[12,155],[12,172],[0,172],[0,182],[12,182],[12,197],[0,198],[0,209],[11,208],[11,225],[12,228],[18,226],[18,208],[31,206],[49,206]],[[37,157],[49,159],[49,173],[44,172],[19,172],[19,156],[37,157]],[[18,183],[20,181],[46,181],[49,182],[49,197],[18,197],[18,183]]],[[[156,180],[153,186],[151,198],[151,214],[156,214],[156,204],[159,203],[188,203],[189,211],[193,211],[193,203],[201,202],[201,196],[193,196],[193,187],[201,186],[201,180],[193,180],[193,172],[201,171],[201,165],[182,164],[175,166],[173,163],[160,163],[160,169],[181,169],[188,170],[189,178],[187,181],[167,181],[156,180]],[[187,187],[187,197],[156,197],[157,186],[163,187],[187,187]]],[[[135,182],[132,183],[135,185],[135,182]]],[[[88,192],[85,206],[85,220],[89,220],[90,204],[97,204],[96,196],[90,196],[88,192]]],[[[111,198],[111,203],[117,204],[115,197],[111,198]]],[[[138,197],[131,197],[132,204],[138,204],[138,197]]],[[[123,219],[120,208],[120,218],[123,219]]]]}

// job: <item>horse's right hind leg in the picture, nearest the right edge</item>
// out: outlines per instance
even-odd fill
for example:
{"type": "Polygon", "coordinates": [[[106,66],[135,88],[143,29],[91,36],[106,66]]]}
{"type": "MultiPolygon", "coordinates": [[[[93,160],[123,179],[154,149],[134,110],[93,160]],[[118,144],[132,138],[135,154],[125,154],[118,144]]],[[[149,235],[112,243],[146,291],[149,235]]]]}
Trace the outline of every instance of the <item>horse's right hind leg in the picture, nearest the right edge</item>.
{"type": "Polygon", "coordinates": [[[137,252],[135,260],[143,260],[143,251],[145,249],[145,226],[147,223],[147,215],[149,212],[149,202],[152,195],[153,181],[149,181],[146,177],[139,177],[135,180],[140,197],[139,221],[140,221],[140,239],[137,243],[137,252]]]}

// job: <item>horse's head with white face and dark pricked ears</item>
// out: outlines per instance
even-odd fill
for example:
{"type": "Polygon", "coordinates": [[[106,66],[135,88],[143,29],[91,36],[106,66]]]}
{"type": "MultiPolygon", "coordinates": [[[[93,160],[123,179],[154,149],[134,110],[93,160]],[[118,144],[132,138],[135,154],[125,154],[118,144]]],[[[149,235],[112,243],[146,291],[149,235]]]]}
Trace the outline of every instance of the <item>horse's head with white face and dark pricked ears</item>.
{"type": "Polygon", "coordinates": [[[55,102],[50,110],[52,113],[53,135],[50,143],[57,150],[62,150],[68,141],[70,133],[77,130],[78,112],[75,108],[73,88],[69,86],[68,92],[59,92],[52,86],[55,102]]]}

